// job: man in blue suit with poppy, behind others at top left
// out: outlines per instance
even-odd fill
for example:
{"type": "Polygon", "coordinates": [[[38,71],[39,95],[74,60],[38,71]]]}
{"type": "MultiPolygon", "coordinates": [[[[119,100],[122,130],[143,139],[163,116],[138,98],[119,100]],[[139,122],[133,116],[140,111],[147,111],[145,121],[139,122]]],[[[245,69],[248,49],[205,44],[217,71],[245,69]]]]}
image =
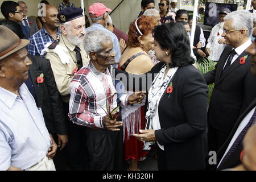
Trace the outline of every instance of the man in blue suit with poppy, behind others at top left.
{"type": "Polygon", "coordinates": [[[24,1],[18,1],[20,10],[23,13],[23,20],[19,22],[20,26],[23,26],[23,31],[27,31],[28,38],[30,38],[35,32],[38,31],[38,25],[36,20],[33,18],[27,17],[27,5],[24,1]]]}

